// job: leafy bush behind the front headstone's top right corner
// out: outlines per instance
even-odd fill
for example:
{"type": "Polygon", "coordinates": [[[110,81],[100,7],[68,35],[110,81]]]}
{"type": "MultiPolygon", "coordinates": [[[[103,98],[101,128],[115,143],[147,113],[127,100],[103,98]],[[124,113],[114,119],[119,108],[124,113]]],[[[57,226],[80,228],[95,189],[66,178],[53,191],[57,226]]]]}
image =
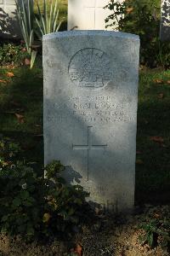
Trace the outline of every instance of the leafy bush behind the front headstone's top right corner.
{"type": "Polygon", "coordinates": [[[170,67],[170,44],[159,40],[160,0],[111,0],[105,8],[113,12],[105,20],[106,27],[116,26],[122,32],[139,35],[141,64],[170,67]]]}

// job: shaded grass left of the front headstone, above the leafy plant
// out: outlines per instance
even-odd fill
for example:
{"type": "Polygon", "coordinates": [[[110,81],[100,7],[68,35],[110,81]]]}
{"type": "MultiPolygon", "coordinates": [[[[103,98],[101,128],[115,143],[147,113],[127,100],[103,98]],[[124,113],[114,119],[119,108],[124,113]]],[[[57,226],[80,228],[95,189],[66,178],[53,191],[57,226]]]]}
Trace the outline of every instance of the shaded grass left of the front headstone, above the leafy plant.
{"type": "MultiPolygon", "coordinates": [[[[27,67],[1,69],[0,134],[21,143],[27,160],[42,168],[42,69],[27,67]]],[[[39,169],[41,169],[39,168],[39,169]]]]}

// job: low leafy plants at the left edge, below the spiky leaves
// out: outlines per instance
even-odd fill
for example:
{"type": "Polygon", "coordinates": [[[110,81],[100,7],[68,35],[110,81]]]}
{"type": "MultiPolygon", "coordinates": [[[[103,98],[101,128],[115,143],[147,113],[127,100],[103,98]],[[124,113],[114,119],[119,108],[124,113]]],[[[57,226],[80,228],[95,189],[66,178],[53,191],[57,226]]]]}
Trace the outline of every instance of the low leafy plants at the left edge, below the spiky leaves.
{"type": "Polygon", "coordinates": [[[3,44],[0,46],[0,66],[22,65],[27,54],[22,45],[3,44]]]}

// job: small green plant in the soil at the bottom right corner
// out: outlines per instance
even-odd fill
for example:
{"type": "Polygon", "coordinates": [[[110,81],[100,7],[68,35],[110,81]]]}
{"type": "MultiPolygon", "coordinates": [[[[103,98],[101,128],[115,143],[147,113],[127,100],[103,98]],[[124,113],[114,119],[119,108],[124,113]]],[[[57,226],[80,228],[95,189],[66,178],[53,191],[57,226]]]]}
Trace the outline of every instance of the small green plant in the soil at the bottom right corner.
{"type": "MultiPolygon", "coordinates": [[[[162,211],[163,212],[163,211],[162,211]]],[[[144,222],[139,224],[139,228],[144,230],[144,235],[139,236],[141,243],[148,243],[150,247],[161,247],[170,249],[170,216],[169,212],[164,214],[151,214],[144,222]]]]}

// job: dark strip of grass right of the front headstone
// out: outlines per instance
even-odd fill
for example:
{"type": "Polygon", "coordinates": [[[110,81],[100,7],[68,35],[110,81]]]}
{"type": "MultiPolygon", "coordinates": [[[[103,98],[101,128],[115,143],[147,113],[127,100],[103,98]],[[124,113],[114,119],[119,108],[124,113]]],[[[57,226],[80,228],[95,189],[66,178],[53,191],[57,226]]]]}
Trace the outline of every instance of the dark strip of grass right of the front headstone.
{"type": "Polygon", "coordinates": [[[170,71],[140,74],[136,200],[170,200],[170,71]],[[139,152],[138,152],[139,151],[139,152]]]}

